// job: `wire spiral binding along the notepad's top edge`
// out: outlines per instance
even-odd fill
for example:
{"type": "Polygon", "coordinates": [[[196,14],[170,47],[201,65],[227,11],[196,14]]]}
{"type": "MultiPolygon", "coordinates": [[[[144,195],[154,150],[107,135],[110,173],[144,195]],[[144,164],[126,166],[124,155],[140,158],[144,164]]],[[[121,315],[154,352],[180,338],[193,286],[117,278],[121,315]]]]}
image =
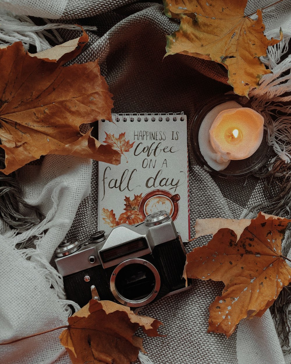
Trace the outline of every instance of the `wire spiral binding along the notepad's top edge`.
{"type": "MultiPolygon", "coordinates": [[[[137,116],[137,121],[163,121],[164,116],[166,116],[165,120],[170,121],[170,116],[173,116],[172,120],[177,121],[184,121],[184,112],[129,112],[129,113],[122,113],[122,114],[112,114],[112,120],[116,123],[123,121],[134,121],[133,116],[137,116]]],[[[105,119],[101,119],[101,122],[105,122],[105,119]]]]}

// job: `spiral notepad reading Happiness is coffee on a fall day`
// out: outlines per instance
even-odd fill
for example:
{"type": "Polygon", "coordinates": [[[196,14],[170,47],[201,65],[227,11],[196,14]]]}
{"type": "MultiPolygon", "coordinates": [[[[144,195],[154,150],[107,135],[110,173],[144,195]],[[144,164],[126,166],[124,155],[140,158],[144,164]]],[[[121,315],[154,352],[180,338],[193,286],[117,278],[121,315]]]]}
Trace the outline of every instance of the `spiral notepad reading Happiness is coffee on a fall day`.
{"type": "Polygon", "coordinates": [[[99,122],[99,141],[121,154],[120,165],[99,162],[98,229],[139,223],[158,210],[171,214],[188,240],[187,117],[181,113],[112,114],[99,122]]]}

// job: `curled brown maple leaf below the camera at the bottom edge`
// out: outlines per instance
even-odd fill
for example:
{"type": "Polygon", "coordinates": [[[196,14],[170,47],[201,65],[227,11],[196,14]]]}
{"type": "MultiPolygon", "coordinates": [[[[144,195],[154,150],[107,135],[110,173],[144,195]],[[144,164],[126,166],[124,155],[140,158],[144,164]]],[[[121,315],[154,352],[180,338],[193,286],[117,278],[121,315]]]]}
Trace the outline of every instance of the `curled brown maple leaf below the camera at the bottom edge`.
{"type": "Polygon", "coordinates": [[[162,324],[133,313],[129,307],[96,300],[89,301],[68,322],[60,341],[73,364],[129,364],[143,350],[143,339],[134,336],[137,328],[148,336],[160,336],[157,328],[162,324]]]}

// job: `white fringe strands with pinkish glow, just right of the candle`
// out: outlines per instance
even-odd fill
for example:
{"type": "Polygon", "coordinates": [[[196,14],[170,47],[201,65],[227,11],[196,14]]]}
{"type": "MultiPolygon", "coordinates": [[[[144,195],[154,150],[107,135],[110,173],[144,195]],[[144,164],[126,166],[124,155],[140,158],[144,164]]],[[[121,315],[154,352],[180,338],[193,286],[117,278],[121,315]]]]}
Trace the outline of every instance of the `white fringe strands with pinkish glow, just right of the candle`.
{"type": "Polygon", "coordinates": [[[272,144],[285,163],[291,162],[291,55],[280,61],[288,51],[290,37],[267,50],[262,62],[272,73],[264,75],[260,86],[250,91],[252,107],[274,127],[272,144]],[[288,104],[287,104],[288,103],[288,104]]]}

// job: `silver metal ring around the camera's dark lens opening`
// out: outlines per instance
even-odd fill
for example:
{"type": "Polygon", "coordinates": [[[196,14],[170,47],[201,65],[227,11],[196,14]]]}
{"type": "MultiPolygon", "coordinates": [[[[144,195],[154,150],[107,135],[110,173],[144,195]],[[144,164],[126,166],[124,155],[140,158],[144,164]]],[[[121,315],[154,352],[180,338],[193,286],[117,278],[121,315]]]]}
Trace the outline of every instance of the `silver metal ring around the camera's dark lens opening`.
{"type": "Polygon", "coordinates": [[[157,296],[157,294],[159,293],[160,287],[161,287],[161,278],[160,278],[160,274],[159,274],[158,270],[156,269],[156,267],[154,265],[152,265],[149,261],[147,261],[145,259],[132,258],[132,259],[127,259],[127,260],[123,261],[122,263],[117,265],[117,267],[115,267],[115,269],[113,270],[111,277],[110,277],[110,290],[111,290],[113,296],[121,304],[128,305],[130,307],[141,307],[141,306],[147,305],[152,300],[154,300],[154,298],[157,296]],[[115,286],[115,279],[116,279],[117,273],[122,268],[124,268],[126,265],[134,264],[134,263],[146,265],[154,274],[155,281],[156,281],[156,284],[155,284],[152,292],[147,297],[143,298],[143,300],[135,300],[135,301],[128,300],[127,298],[123,297],[117,291],[116,286],[115,286]]]}

